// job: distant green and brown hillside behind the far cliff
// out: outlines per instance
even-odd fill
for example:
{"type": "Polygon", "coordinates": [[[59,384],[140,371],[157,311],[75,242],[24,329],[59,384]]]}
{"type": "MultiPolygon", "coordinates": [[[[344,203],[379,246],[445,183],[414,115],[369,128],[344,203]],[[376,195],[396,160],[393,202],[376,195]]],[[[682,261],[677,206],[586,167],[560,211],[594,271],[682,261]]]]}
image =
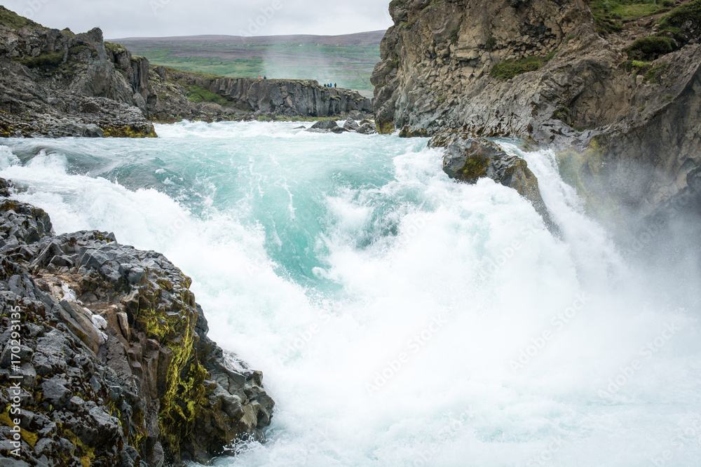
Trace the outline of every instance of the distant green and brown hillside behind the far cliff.
{"type": "Polygon", "coordinates": [[[111,39],[151,63],[232,77],[316,79],[372,96],[384,31],[343,36],[178,36],[111,39]]]}

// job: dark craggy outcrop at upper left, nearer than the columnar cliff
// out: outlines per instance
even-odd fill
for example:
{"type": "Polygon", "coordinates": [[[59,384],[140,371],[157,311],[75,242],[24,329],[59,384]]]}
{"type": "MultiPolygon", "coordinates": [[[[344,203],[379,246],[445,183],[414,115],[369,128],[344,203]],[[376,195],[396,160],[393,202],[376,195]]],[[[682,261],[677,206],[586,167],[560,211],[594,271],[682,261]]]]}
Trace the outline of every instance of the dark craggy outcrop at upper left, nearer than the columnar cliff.
{"type": "Polygon", "coordinates": [[[112,55],[97,28],[0,25],[0,137],[155,136],[142,113],[147,90],[132,67],[118,72],[112,55]]]}

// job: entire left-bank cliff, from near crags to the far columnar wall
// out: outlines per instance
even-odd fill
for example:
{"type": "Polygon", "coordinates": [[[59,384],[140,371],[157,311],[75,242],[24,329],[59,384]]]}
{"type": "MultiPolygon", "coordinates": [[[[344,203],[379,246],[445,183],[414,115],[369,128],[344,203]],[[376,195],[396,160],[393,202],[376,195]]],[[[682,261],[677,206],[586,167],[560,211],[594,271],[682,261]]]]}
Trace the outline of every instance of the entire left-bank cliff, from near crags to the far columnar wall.
{"type": "Polygon", "coordinates": [[[153,67],[104,41],[0,6],[0,137],[156,137],[152,122],[372,115],[355,91],[153,67]]]}

